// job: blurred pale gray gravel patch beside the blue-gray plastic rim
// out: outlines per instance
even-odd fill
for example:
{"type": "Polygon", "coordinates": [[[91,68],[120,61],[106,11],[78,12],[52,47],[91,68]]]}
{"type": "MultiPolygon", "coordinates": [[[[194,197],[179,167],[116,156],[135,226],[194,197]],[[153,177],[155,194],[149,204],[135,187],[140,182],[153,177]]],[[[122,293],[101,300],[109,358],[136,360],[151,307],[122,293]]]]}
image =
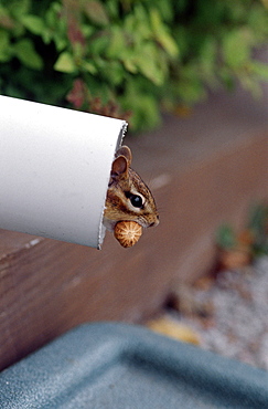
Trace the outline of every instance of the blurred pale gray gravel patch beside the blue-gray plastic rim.
{"type": "Polygon", "coordinates": [[[268,370],[268,256],[219,272],[213,285],[193,292],[210,308],[180,314],[180,322],[199,334],[201,347],[268,370]]]}

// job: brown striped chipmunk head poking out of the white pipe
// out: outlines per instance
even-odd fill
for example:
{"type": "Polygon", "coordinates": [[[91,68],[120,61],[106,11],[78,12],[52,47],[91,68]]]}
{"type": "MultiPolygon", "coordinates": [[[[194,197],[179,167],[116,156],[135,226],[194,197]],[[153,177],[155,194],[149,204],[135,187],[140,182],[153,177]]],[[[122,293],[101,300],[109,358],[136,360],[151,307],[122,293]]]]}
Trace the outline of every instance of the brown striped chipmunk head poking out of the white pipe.
{"type": "Polygon", "coordinates": [[[132,154],[120,147],[111,166],[104,211],[104,226],[114,231],[118,221],[136,221],[142,228],[158,226],[159,214],[153,196],[138,174],[130,168],[132,154]]]}

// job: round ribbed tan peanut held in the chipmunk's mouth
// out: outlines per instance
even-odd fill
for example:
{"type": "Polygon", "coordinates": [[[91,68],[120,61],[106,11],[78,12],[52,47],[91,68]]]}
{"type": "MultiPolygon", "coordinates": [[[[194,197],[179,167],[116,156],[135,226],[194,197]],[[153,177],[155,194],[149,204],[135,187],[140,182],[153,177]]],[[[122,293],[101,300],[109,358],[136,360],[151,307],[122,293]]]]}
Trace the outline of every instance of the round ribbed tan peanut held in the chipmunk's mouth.
{"type": "Polygon", "coordinates": [[[140,239],[142,227],[136,221],[118,221],[114,234],[124,248],[131,248],[140,239]]]}

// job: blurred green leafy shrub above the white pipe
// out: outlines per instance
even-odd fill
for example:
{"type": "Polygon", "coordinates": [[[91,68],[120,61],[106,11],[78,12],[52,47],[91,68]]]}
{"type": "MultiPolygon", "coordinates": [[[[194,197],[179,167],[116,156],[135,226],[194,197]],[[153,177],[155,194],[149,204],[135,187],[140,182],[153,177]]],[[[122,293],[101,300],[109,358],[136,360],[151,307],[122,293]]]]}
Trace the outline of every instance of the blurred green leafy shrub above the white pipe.
{"type": "Polygon", "coordinates": [[[265,0],[1,0],[0,92],[153,127],[237,82],[260,94],[265,0]]]}

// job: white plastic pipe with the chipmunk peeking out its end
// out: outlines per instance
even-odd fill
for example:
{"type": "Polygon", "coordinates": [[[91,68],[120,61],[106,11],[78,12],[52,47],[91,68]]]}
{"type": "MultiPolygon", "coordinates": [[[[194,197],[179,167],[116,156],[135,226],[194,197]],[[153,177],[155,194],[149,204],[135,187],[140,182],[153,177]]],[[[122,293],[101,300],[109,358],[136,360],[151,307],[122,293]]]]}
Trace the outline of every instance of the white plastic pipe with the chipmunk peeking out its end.
{"type": "Polygon", "coordinates": [[[127,123],[0,96],[0,228],[100,248],[127,123]]]}

